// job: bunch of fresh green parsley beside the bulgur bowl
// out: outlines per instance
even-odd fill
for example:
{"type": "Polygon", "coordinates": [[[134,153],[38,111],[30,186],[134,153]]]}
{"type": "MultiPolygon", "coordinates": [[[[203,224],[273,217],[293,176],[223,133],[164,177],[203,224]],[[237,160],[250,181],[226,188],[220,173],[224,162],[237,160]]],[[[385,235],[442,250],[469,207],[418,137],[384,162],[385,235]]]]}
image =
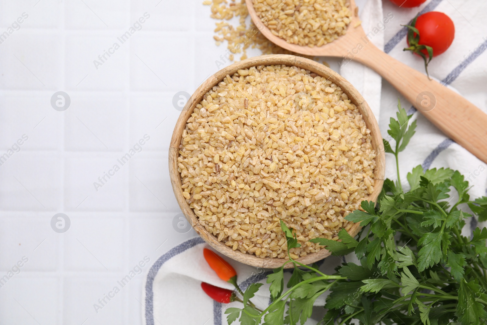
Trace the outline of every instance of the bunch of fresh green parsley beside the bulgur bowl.
{"type": "MultiPolygon", "coordinates": [[[[387,153],[398,153],[414,134],[415,122],[398,105],[397,120],[388,131],[395,150],[384,140],[387,153]]],[[[399,174],[397,175],[399,178],[399,174]]],[[[470,200],[468,181],[448,168],[408,173],[411,189],[387,179],[378,203],[363,201],[345,219],[363,227],[357,238],[344,229],[339,241],[315,238],[334,255],[355,252],[360,264],[347,263],[333,275],[306,266],[289,256],[294,271],[284,291],[283,267],[267,277],[272,303],[262,312],[247,304],[262,284],[249,286],[244,308],[228,308],[228,324],[300,324],[311,316],[313,303],[328,293],[321,325],[480,325],[487,323],[487,229],[462,235],[472,215],[487,220],[487,197],[470,200]],[[455,193],[451,195],[451,193],[455,193]]],[[[300,247],[296,234],[281,221],[288,251],[300,247]]],[[[245,299],[246,298],[246,299],[245,299]]]]}

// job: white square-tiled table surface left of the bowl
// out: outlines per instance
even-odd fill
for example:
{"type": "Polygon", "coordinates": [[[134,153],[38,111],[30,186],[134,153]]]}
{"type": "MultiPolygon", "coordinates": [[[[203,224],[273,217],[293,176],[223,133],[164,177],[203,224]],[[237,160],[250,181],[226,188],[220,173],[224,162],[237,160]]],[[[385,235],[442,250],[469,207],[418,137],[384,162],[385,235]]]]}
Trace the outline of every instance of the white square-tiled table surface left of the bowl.
{"type": "Polygon", "coordinates": [[[195,235],[172,228],[180,210],[167,151],[180,113],[172,97],[191,94],[226,50],[201,2],[0,0],[0,33],[28,15],[0,44],[0,155],[28,136],[0,166],[0,277],[28,258],[0,287],[0,324],[141,323],[141,274],[97,312],[94,304],[145,256],[152,263],[195,235]],[[96,69],[145,12],[142,29],[96,69]],[[51,106],[57,91],[71,98],[64,112],[51,106]],[[69,216],[67,232],[51,228],[56,213],[69,216]]]}

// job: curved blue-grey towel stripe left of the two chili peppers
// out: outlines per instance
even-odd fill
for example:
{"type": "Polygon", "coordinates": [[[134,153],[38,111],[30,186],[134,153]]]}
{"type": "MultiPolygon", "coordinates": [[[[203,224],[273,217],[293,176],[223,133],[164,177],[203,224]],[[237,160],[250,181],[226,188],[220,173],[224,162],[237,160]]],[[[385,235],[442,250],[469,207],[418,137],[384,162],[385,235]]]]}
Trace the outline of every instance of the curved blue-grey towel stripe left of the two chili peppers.
{"type": "Polygon", "coordinates": [[[147,282],[146,282],[146,324],[147,325],[154,325],[154,315],[153,315],[154,292],[152,291],[152,285],[154,283],[154,278],[157,275],[157,272],[159,271],[159,268],[161,268],[163,264],[166,263],[172,257],[198,244],[203,244],[204,242],[205,241],[201,237],[191,238],[186,242],[179,244],[178,246],[170,249],[166,254],[159,257],[159,259],[155,261],[154,265],[149,269],[149,273],[147,274],[147,282]]]}

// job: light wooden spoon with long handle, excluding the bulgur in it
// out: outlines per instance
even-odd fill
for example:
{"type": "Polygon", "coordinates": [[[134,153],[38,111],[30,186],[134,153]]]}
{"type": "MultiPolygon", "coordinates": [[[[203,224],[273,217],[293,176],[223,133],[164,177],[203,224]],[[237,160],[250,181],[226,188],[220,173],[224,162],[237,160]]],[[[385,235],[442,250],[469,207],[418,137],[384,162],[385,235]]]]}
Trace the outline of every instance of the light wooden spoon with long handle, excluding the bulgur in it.
{"type": "MultiPolygon", "coordinates": [[[[350,10],[355,13],[354,0],[350,10]]],[[[290,44],[277,37],[262,23],[252,0],[246,0],[248,12],[256,27],[271,42],[282,48],[308,56],[344,57],[355,60],[389,81],[414,107],[456,143],[487,163],[487,114],[444,85],[428,79],[423,73],[388,56],[367,38],[354,15],[347,34],[320,47],[290,44]]]]}

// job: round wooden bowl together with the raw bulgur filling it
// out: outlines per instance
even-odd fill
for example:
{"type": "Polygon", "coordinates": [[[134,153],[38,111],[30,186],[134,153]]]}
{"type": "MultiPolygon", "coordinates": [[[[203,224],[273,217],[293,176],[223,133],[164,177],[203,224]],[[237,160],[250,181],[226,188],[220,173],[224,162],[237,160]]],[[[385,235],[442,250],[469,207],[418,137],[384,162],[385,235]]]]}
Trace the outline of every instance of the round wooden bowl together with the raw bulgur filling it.
{"type": "Polygon", "coordinates": [[[280,220],[295,229],[293,258],[329,255],[316,237],[358,225],[344,217],[382,187],[377,123],[358,92],[325,66],[274,55],[235,63],[200,86],[169,152],[181,209],[215,249],[273,268],[287,257],[280,220]]]}

